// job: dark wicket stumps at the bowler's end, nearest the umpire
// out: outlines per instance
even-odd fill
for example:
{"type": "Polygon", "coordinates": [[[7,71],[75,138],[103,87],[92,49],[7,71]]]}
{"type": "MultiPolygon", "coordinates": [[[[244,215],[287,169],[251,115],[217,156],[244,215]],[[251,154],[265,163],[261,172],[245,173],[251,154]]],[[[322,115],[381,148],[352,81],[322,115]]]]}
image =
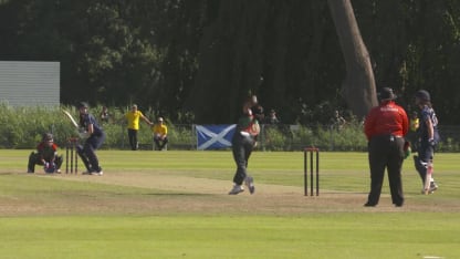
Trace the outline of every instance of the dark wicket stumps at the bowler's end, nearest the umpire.
{"type": "Polygon", "coordinates": [[[303,178],[305,187],[305,196],[309,196],[309,165],[310,165],[310,196],[313,196],[313,169],[315,164],[316,172],[316,196],[320,196],[320,148],[317,147],[306,147],[303,151],[303,178]],[[315,163],[313,157],[316,157],[315,163]],[[309,159],[310,156],[310,159],[309,159]],[[310,160],[310,164],[309,164],[310,160]]]}

